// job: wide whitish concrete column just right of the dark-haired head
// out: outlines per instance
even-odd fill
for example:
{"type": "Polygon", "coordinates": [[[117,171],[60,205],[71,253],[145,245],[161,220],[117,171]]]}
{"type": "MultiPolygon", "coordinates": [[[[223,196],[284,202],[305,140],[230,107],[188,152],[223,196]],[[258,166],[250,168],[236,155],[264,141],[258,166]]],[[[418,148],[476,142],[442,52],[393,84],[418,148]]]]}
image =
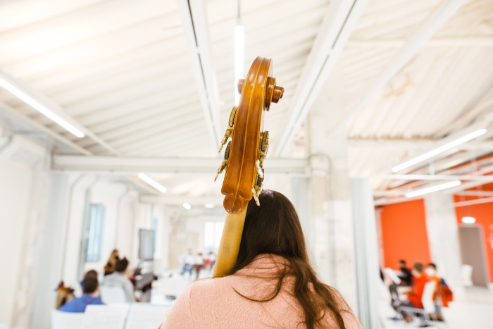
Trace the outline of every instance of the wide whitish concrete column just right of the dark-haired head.
{"type": "MultiPolygon", "coordinates": [[[[335,71],[337,73],[337,70],[335,71]]],[[[335,74],[314,103],[307,129],[311,159],[311,221],[318,273],[356,311],[354,231],[351,214],[347,136],[344,123],[327,130],[344,112],[342,80],[335,74]]]]}

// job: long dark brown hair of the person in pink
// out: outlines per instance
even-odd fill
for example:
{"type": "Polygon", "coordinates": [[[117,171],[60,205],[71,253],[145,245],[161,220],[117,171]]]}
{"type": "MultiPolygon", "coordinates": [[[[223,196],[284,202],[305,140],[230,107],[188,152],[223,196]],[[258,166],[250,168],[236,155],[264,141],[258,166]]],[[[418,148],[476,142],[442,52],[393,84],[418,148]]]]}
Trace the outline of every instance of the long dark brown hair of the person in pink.
{"type": "Polygon", "coordinates": [[[252,299],[242,296],[256,302],[268,302],[279,294],[284,279],[293,275],[292,294],[304,311],[306,328],[321,326],[321,320],[328,311],[339,328],[345,329],[341,312],[350,311],[349,306],[337,290],[321,283],[313,271],[301,223],[291,201],[271,190],[263,191],[258,199],[260,206],[256,206],[254,201],[248,204],[237,263],[230,274],[244,268],[260,254],[282,256],[289,264],[278,273],[275,290],[268,297],[252,299]]]}

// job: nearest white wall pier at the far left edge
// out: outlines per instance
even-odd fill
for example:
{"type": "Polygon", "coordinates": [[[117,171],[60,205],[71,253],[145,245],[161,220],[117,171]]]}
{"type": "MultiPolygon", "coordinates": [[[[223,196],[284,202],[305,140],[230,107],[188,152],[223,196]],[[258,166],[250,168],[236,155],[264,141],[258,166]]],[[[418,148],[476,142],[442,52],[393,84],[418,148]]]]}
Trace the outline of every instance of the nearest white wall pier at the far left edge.
{"type": "Polygon", "coordinates": [[[23,137],[0,139],[0,323],[26,327],[46,221],[48,154],[23,137]]]}

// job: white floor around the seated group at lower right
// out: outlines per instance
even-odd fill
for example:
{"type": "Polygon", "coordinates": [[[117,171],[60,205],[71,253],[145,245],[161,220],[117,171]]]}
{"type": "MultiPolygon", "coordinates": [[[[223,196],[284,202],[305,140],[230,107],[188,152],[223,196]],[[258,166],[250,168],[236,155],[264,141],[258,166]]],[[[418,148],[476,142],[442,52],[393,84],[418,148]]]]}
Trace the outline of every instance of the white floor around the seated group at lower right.
{"type": "MultiPolygon", "coordinates": [[[[454,302],[447,309],[443,309],[444,323],[431,323],[430,328],[440,329],[493,329],[493,289],[483,287],[451,287],[454,292],[454,302]]],[[[402,321],[395,322],[389,317],[395,316],[395,312],[388,304],[388,299],[380,303],[382,327],[416,328],[418,323],[406,324],[402,321]]]]}

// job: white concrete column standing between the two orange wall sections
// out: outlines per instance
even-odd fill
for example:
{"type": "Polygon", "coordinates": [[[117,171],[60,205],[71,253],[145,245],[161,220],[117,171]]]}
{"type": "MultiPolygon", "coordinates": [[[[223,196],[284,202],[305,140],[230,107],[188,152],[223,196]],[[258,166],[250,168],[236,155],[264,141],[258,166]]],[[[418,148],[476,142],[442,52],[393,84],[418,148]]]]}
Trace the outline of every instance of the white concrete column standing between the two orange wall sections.
{"type": "Polygon", "coordinates": [[[454,197],[435,192],[425,197],[426,228],[432,261],[439,275],[448,281],[460,279],[461,253],[458,246],[458,225],[454,197]]]}

